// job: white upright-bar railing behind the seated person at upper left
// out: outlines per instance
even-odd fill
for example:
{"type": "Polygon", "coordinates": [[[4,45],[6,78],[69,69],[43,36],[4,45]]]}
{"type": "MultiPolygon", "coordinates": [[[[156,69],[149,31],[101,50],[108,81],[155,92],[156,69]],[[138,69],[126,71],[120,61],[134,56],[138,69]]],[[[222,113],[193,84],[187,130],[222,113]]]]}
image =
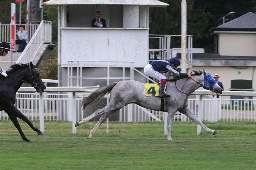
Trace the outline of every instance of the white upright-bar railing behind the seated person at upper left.
{"type": "MultiPolygon", "coordinates": [[[[19,31],[19,22],[16,22],[16,32],[19,31]]],[[[26,25],[26,22],[21,22],[21,25],[26,25]]],[[[28,38],[31,39],[35,34],[40,22],[29,22],[28,24],[28,38]]],[[[11,42],[11,24],[10,22],[0,22],[0,42],[11,42]]]]}

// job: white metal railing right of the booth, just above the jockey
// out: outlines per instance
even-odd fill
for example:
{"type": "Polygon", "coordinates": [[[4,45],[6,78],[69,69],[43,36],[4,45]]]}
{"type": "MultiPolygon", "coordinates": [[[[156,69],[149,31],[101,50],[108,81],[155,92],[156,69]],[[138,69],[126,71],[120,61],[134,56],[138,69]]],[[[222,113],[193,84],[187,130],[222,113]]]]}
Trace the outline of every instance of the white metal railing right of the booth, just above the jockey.
{"type": "MultiPolygon", "coordinates": [[[[176,53],[181,53],[181,48],[177,44],[181,42],[181,35],[149,35],[149,60],[166,60],[176,57],[176,53]]],[[[187,68],[192,66],[193,36],[187,36],[187,68]]],[[[181,63],[182,64],[182,63],[181,63]]]]}

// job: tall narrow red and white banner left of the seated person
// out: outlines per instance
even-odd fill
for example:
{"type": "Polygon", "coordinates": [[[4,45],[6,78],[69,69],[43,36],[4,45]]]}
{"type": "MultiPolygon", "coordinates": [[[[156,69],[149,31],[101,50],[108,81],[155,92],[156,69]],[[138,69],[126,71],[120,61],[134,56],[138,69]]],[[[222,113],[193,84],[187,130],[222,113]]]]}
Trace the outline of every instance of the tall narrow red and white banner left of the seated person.
{"type": "Polygon", "coordinates": [[[16,21],[16,4],[11,3],[11,50],[15,50],[15,31],[16,31],[16,26],[15,26],[15,21],[16,21]]]}

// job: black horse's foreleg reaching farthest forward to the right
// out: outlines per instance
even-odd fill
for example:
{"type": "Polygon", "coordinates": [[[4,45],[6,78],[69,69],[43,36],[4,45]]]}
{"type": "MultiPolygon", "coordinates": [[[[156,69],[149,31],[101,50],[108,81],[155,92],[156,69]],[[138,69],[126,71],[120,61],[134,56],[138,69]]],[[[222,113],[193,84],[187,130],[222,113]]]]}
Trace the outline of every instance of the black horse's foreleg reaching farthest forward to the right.
{"type": "Polygon", "coordinates": [[[36,131],[38,135],[43,135],[43,133],[36,128],[29,120],[28,118],[22,114],[13,104],[10,104],[9,102],[6,102],[4,106],[4,111],[10,115],[13,114],[14,116],[22,119],[22,121],[25,121],[31,128],[33,131],[36,131]]]}

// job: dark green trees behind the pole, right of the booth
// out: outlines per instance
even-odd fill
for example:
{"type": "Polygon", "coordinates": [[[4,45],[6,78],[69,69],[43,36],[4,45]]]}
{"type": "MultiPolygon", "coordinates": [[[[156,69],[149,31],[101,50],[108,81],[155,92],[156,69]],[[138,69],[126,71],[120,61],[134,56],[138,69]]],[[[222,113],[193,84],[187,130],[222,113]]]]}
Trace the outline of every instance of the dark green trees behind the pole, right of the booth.
{"type": "MultiPolygon", "coordinates": [[[[181,0],[162,2],[170,6],[150,9],[150,33],[181,34],[181,0]]],[[[236,16],[227,17],[229,20],[247,12],[256,13],[256,0],[246,0],[246,3],[240,0],[187,0],[187,34],[193,35],[193,47],[205,48],[206,52],[213,53],[214,36],[209,29],[231,11],[235,11],[236,16]]],[[[174,45],[180,46],[180,40],[176,40],[174,45]]]]}

